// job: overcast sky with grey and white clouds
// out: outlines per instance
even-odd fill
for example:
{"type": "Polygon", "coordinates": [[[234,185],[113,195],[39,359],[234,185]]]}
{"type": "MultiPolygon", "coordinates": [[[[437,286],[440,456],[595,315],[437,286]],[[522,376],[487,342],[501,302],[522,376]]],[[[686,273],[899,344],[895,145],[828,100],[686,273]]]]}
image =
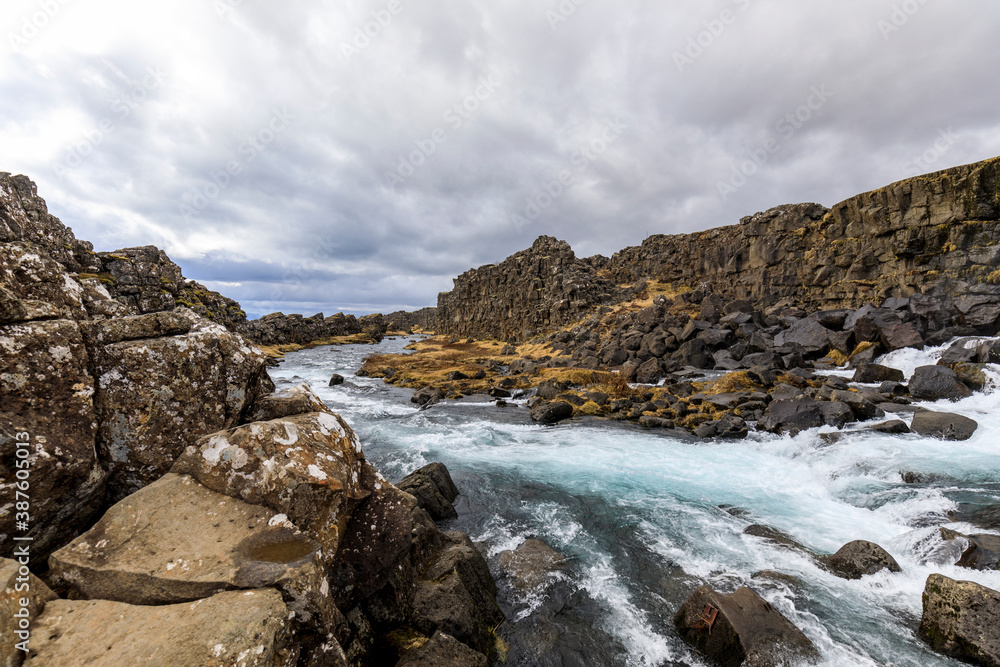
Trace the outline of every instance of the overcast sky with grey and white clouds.
{"type": "Polygon", "coordinates": [[[251,315],[419,308],[539,234],[610,256],[1000,155],[996,0],[0,12],[0,171],[251,315]]]}

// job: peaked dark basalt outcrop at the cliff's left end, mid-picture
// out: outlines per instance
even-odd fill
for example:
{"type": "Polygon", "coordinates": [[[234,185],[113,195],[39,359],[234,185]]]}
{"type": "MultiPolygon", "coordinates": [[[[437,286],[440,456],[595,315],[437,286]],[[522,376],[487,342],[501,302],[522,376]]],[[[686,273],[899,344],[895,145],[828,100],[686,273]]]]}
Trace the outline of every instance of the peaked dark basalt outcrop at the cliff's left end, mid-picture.
{"type": "Polygon", "coordinates": [[[577,259],[565,241],[540,236],[500,264],[466,271],[451,292],[438,295],[439,333],[524,340],[575,322],[624,294],[595,264],[577,259]]]}

